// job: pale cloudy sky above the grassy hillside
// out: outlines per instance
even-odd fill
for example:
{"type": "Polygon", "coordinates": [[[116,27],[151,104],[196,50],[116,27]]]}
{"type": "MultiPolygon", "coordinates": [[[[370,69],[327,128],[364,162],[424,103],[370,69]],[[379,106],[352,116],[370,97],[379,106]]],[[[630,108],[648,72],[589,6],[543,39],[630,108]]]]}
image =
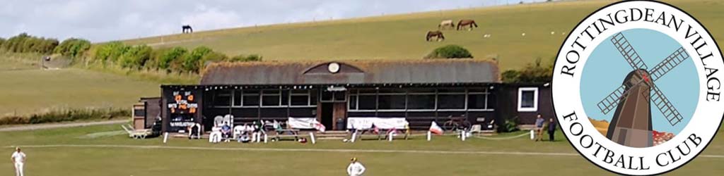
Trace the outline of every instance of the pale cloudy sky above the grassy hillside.
{"type": "MultiPolygon", "coordinates": [[[[524,0],[540,1],[540,0],[524,0]]],[[[2,0],[0,38],[21,32],[93,42],[194,30],[516,4],[519,0],[2,0]]]]}

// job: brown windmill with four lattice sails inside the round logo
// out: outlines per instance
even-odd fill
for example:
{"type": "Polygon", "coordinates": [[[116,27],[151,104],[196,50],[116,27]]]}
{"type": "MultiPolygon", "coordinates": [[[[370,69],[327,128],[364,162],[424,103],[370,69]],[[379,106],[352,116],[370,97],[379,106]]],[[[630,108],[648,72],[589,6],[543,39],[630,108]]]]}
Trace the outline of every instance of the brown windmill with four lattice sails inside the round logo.
{"type": "Polygon", "coordinates": [[[624,146],[653,146],[651,104],[659,109],[671,126],[682,120],[681,114],[654,82],[689,58],[689,54],[678,48],[649,70],[622,33],[614,35],[611,42],[633,71],[626,75],[620,87],[597,104],[603,114],[610,113],[615,107],[606,137],[624,146]]]}

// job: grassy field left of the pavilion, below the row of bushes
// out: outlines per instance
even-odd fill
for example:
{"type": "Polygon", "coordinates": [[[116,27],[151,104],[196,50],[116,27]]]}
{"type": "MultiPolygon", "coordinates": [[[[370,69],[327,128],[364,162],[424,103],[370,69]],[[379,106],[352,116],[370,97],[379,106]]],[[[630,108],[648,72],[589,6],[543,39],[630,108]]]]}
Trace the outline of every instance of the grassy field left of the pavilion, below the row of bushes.
{"type": "MultiPolygon", "coordinates": [[[[2,56],[0,56],[2,57],[2,56]]],[[[26,61],[0,58],[0,117],[77,108],[127,107],[159,96],[159,83],[87,69],[43,71],[26,61]]]]}

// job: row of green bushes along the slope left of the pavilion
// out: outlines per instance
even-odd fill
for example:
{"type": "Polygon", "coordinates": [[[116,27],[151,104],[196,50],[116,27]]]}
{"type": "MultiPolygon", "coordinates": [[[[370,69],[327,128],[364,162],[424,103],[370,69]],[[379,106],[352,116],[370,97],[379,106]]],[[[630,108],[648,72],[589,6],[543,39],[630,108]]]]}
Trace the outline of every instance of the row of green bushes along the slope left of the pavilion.
{"type": "Polygon", "coordinates": [[[54,38],[38,38],[26,33],[7,40],[0,38],[0,50],[14,53],[59,54],[74,61],[115,64],[127,69],[156,69],[167,72],[198,74],[206,65],[219,61],[261,61],[261,56],[229,57],[206,46],[189,50],[182,47],[151,48],[148,45],[126,45],[110,42],[93,45],[88,40],[69,38],[59,43],[54,38]]]}

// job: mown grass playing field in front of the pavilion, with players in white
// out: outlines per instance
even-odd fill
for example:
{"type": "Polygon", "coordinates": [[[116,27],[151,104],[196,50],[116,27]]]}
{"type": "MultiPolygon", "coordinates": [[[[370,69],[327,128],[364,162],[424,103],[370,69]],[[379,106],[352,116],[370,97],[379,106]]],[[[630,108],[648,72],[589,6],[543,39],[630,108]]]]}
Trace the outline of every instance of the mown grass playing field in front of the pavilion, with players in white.
{"type": "MultiPolygon", "coordinates": [[[[532,142],[527,136],[464,142],[452,136],[433,141],[416,136],[392,143],[320,140],[315,145],[292,141],[209,144],[172,138],[163,144],[161,138],[127,138],[119,129],[110,125],[0,132],[0,146],[4,146],[0,151],[9,155],[12,146],[27,146],[28,175],[345,175],[350,157],[361,159],[367,175],[610,175],[579,157],[560,133],[559,141],[553,143],[532,142]],[[75,146],[43,146],[51,144],[75,146]],[[491,151],[501,153],[486,153],[491,151]],[[537,154],[510,154],[514,152],[537,154]]],[[[723,154],[724,137],[720,135],[702,156],[670,174],[721,173],[723,154]]],[[[0,164],[0,172],[11,174],[12,164],[0,164]]]]}

